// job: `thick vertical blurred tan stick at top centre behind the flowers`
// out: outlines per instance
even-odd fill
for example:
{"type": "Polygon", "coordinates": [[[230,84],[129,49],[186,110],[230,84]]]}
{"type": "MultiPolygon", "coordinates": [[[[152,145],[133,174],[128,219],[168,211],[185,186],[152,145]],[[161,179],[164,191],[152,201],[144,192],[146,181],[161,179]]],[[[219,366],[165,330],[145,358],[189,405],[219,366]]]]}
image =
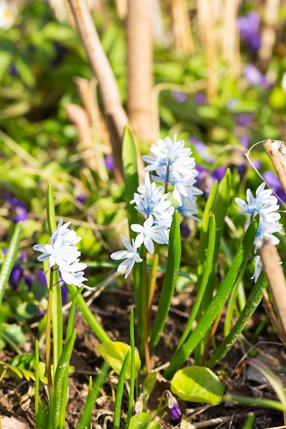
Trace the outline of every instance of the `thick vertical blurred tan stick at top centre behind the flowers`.
{"type": "Polygon", "coordinates": [[[127,9],[127,92],[128,114],[140,140],[153,142],[151,93],[153,77],[153,37],[151,0],[129,0],[127,9]]]}

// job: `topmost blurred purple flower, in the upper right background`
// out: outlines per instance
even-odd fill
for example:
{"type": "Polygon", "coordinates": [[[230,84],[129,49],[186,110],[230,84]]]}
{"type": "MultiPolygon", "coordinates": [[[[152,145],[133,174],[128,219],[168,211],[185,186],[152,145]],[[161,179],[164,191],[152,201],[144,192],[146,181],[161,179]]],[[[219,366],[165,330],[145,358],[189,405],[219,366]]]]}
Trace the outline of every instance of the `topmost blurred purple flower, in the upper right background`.
{"type": "Polygon", "coordinates": [[[237,18],[240,37],[246,43],[246,48],[252,52],[256,52],[261,46],[259,23],[260,16],[255,10],[251,10],[247,15],[237,18]]]}

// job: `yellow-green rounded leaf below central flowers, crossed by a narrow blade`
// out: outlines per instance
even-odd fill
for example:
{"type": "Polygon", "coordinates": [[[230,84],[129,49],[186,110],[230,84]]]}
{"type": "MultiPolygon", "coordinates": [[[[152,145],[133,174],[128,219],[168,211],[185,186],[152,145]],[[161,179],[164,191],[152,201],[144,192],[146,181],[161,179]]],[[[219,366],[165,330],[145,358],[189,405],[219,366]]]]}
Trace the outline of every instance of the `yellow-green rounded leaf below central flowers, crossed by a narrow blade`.
{"type": "MultiPolygon", "coordinates": [[[[127,352],[131,351],[131,347],[128,344],[122,343],[121,341],[115,341],[114,343],[102,343],[97,347],[99,353],[105,360],[105,362],[112,367],[117,374],[120,374],[123,361],[125,360],[125,356],[127,352]]],[[[138,372],[141,367],[141,360],[138,352],[135,352],[135,378],[138,377],[138,372]]],[[[131,362],[129,359],[126,378],[130,378],[131,376],[131,362]]]]}

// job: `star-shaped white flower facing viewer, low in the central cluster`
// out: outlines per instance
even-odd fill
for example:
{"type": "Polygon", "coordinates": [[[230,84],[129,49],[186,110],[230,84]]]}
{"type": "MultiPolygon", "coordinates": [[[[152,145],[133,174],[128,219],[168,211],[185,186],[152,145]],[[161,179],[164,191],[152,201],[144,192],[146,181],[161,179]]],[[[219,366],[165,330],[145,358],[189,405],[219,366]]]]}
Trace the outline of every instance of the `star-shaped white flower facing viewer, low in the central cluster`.
{"type": "Polygon", "coordinates": [[[161,234],[166,231],[166,229],[167,227],[165,225],[154,225],[153,216],[149,216],[143,225],[133,223],[133,225],[131,225],[131,230],[140,233],[135,238],[135,246],[140,247],[140,245],[144,243],[148,252],[153,255],[155,250],[153,241],[159,244],[168,243],[168,241],[166,241],[166,236],[161,234]]]}

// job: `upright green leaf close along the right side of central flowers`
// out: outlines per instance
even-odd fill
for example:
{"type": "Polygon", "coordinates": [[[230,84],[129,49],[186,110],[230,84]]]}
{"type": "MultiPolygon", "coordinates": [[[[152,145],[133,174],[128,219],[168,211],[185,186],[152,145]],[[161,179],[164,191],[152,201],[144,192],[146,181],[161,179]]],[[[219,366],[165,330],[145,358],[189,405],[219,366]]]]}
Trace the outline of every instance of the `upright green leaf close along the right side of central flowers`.
{"type": "Polygon", "coordinates": [[[151,339],[149,343],[150,353],[152,354],[160,339],[161,332],[164,329],[166,318],[170,309],[174,287],[176,286],[178,272],[181,262],[181,233],[179,223],[179,213],[174,212],[172,225],[170,229],[168,260],[164,282],[156,313],[151,339]]]}

